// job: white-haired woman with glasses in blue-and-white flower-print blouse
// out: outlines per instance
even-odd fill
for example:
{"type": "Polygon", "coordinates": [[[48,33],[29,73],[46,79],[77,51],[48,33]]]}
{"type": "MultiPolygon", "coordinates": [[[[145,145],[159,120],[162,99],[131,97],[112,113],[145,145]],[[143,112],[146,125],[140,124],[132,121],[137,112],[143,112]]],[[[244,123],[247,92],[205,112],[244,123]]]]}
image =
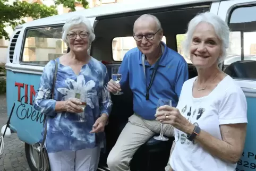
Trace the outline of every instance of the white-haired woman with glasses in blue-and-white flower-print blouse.
{"type": "Polygon", "coordinates": [[[56,59],[54,89],[55,61],[45,66],[34,107],[47,115],[45,144],[51,170],[95,171],[112,107],[107,68],[88,54],[95,39],[88,19],[74,16],[66,21],[62,38],[70,52],[56,59]],[[82,102],[86,102],[84,109],[82,102]],[[78,114],[84,122],[79,122],[78,114]]]}

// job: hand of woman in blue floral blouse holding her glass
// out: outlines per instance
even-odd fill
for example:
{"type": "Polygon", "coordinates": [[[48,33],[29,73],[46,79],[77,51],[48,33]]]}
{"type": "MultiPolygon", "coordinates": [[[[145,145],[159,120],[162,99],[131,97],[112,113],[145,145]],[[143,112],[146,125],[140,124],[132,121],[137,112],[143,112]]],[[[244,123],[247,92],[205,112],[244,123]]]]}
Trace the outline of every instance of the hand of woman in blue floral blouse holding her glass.
{"type": "Polygon", "coordinates": [[[70,112],[70,113],[83,112],[83,109],[78,105],[82,105],[82,102],[79,99],[70,98],[69,100],[65,101],[64,108],[65,108],[66,112],[70,112]]]}

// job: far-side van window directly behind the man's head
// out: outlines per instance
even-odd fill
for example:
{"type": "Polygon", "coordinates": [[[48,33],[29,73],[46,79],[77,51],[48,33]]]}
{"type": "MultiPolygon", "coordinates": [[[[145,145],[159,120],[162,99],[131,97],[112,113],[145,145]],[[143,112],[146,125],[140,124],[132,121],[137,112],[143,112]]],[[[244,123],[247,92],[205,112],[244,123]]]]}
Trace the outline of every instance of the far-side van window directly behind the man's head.
{"type": "MultiPolygon", "coordinates": [[[[165,36],[162,41],[166,44],[165,36]]],[[[114,38],[112,40],[113,61],[123,61],[125,53],[134,47],[136,47],[136,42],[132,36],[114,38]]]]}

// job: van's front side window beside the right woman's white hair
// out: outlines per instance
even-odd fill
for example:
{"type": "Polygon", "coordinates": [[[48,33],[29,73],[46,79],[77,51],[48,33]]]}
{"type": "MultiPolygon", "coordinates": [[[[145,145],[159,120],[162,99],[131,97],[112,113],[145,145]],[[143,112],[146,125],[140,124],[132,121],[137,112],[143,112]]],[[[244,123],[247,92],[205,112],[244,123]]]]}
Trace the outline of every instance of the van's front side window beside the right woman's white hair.
{"type": "MultiPolygon", "coordinates": [[[[256,61],[256,6],[234,8],[229,15],[230,46],[225,65],[236,61],[256,61]]],[[[256,67],[256,66],[255,66],[256,67]]]]}

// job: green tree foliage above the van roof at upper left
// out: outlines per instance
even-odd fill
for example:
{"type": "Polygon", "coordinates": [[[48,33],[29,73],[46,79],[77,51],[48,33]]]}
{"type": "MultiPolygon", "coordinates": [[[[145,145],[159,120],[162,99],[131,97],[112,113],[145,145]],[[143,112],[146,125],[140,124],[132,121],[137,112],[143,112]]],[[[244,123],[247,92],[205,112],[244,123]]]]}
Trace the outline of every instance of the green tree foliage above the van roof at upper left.
{"type": "Polygon", "coordinates": [[[15,0],[8,3],[8,0],[0,0],[0,39],[9,39],[5,27],[11,26],[13,29],[25,21],[25,17],[31,17],[33,20],[45,18],[47,16],[57,15],[56,5],[63,4],[75,11],[75,2],[81,3],[84,8],[88,8],[89,3],[86,0],[55,0],[55,5],[46,6],[38,3],[30,4],[25,1],[15,0]]]}

